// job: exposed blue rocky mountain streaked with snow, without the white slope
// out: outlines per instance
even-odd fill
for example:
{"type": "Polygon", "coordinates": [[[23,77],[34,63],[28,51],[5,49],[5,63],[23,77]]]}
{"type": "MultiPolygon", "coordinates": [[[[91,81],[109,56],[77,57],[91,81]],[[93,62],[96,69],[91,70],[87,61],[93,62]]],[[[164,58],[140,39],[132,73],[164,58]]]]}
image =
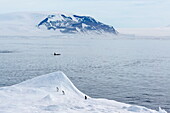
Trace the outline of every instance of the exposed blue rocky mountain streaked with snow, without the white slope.
{"type": "Polygon", "coordinates": [[[48,15],[38,24],[38,27],[46,26],[48,30],[59,30],[62,33],[96,32],[117,34],[109,25],[96,21],[90,16],[56,14],[48,15]]]}

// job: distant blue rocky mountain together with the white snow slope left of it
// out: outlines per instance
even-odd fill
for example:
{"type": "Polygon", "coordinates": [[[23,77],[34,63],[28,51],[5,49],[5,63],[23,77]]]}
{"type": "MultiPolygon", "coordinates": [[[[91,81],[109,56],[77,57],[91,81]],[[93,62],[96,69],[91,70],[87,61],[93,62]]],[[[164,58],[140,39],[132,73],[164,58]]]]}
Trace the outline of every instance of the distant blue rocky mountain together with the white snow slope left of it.
{"type": "Polygon", "coordinates": [[[90,16],[66,13],[34,12],[0,14],[1,36],[35,36],[69,34],[118,34],[109,25],[90,16]]]}

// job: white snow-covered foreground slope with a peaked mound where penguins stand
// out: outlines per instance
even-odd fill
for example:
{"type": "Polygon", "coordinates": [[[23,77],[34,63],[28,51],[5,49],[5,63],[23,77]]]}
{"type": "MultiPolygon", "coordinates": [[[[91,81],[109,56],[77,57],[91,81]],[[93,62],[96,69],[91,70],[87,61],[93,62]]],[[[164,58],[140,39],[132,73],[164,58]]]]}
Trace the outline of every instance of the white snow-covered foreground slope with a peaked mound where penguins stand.
{"type": "Polygon", "coordinates": [[[84,96],[63,72],[54,72],[0,88],[0,113],[167,113],[84,96]]]}

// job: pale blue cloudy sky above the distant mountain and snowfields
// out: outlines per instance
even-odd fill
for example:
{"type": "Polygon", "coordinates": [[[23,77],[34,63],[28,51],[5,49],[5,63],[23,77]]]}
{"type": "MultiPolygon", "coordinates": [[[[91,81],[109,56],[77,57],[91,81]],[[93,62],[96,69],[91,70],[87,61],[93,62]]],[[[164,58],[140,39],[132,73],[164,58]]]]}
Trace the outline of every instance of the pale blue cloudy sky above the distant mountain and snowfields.
{"type": "Polygon", "coordinates": [[[0,13],[25,11],[90,15],[117,28],[170,25],[170,0],[0,0],[0,13]]]}

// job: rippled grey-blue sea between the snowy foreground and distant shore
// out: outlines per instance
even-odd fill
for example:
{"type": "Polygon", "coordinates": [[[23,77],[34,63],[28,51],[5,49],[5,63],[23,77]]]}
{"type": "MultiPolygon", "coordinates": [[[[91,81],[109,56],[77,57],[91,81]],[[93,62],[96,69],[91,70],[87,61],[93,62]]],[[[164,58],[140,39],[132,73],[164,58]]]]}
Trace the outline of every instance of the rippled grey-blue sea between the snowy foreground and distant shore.
{"type": "Polygon", "coordinates": [[[0,37],[0,87],[58,70],[91,97],[170,112],[168,39],[0,37]]]}

